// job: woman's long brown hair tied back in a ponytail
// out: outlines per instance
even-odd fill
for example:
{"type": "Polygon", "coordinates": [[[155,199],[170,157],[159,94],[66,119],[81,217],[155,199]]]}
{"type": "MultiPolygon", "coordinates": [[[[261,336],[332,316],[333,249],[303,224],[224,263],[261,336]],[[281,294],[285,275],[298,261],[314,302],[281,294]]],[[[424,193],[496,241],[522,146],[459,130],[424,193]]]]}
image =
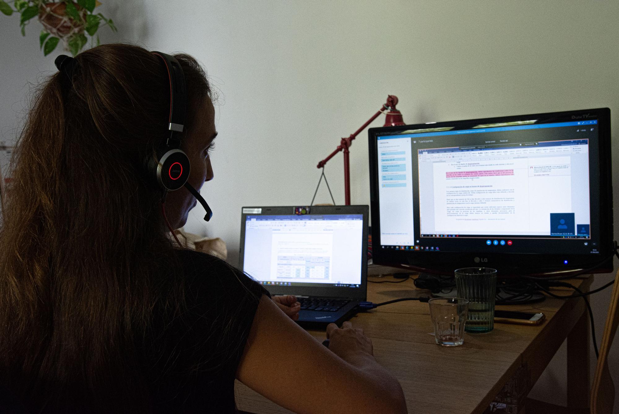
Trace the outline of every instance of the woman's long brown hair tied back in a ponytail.
{"type": "MultiPolygon", "coordinates": [[[[175,57],[191,126],[191,108],[211,90],[193,57],[175,57]]],[[[76,61],[72,82],[57,72],[38,87],[12,158],[0,226],[0,379],[35,412],[145,412],[139,344],[155,308],[173,318],[186,306],[161,193],[144,169],[166,136],[167,72],[129,44],[76,61]]]]}

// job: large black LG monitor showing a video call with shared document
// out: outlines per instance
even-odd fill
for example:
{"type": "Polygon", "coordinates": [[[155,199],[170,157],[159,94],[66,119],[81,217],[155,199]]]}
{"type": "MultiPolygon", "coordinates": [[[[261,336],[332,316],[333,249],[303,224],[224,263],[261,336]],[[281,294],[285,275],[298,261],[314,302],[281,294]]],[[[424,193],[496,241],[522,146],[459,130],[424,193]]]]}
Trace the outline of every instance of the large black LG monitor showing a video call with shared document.
{"type": "Polygon", "coordinates": [[[610,109],[369,130],[374,263],[612,271],[610,109]]]}

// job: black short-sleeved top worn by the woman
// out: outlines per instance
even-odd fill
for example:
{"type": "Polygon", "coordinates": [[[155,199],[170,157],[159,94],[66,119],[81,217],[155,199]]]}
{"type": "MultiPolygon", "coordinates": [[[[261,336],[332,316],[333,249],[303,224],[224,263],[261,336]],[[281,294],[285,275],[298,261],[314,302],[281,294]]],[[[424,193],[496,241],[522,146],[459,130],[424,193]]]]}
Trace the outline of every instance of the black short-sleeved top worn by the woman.
{"type": "Polygon", "coordinates": [[[236,368],[259,299],[269,292],[206,253],[179,250],[178,258],[189,311],[157,316],[145,349],[154,412],[235,413],[236,368]]]}

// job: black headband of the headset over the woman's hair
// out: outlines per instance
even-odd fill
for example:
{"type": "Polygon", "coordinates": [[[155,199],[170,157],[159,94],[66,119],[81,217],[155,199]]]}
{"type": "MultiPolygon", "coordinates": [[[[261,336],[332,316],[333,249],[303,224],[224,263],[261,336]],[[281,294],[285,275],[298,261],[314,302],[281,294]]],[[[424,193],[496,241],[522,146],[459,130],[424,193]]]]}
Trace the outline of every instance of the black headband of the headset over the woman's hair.
{"type": "Polygon", "coordinates": [[[187,107],[187,93],[183,68],[176,58],[169,54],[162,52],[153,52],[153,54],[163,59],[170,80],[170,119],[168,119],[170,137],[168,137],[165,145],[171,148],[179,148],[181,139],[178,137],[178,133],[183,132],[185,110],[187,107]]]}

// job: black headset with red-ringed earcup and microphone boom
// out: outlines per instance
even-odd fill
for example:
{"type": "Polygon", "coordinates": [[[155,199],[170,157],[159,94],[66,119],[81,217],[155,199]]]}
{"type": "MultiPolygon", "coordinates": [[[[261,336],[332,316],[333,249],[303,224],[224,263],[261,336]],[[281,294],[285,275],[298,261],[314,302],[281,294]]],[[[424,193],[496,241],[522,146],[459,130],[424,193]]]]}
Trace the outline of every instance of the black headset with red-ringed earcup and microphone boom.
{"type": "Polygon", "coordinates": [[[165,193],[178,190],[181,187],[187,188],[191,195],[204,207],[206,211],[204,220],[209,221],[213,216],[213,211],[200,193],[187,182],[189,172],[191,172],[191,163],[189,163],[187,154],[180,149],[180,134],[183,132],[187,107],[183,68],[176,58],[169,54],[156,51],[152,53],[163,60],[170,80],[170,117],[168,119],[170,136],[157,149],[157,157],[149,158],[149,175],[152,179],[157,180],[157,184],[165,193]]]}

